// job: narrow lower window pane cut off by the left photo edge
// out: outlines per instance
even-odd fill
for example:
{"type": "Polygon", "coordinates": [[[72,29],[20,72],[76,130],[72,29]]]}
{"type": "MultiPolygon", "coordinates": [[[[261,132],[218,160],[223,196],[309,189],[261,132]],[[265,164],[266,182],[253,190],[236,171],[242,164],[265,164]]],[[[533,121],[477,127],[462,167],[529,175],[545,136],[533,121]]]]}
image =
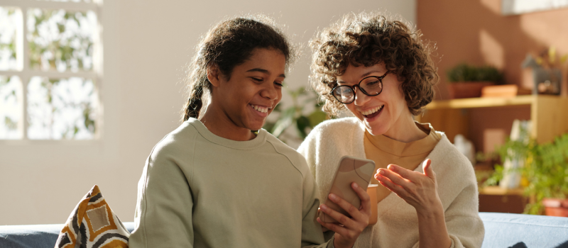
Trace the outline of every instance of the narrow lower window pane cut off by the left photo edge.
{"type": "Polygon", "coordinates": [[[20,78],[0,76],[0,140],[22,138],[22,100],[20,78]]]}

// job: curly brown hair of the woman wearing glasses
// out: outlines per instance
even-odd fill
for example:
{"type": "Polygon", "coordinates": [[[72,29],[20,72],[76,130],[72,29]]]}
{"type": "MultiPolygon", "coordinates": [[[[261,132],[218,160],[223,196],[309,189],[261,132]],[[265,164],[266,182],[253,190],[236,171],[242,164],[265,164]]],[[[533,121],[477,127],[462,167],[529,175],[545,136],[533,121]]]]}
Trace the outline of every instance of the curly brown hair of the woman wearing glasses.
{"type": "Polygon", "coordinates": [[[373,13],[349,14],[324,28],[310,41],[314,52],[310,82],[324,100],[323,110],[337,115],[345,108],[329,92],[349,64],[371,67],[384,62],[403,82],[410,113],[420,114],[432,101],[439,80],[430,55],[435,46],[422,43],[421,36],[420,30],[408,28],[404,21],[373,13]]]}

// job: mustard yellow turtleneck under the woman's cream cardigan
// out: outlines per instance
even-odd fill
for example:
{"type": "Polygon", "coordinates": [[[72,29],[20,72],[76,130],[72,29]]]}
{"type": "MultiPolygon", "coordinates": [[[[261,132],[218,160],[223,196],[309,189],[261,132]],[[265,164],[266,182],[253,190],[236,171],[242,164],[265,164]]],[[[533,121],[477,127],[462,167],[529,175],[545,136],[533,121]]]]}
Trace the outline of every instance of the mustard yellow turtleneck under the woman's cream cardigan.
{"type": "MultiPolygon", "coordinates": [[[[414,170],[426,159],[442,136],[435,132],[430,123],[416,123],[416,126],[427,136],[408,143],[396,141],[384,135],[371,135],[365,131],[363,138],[365,155],[367,159],[375,162],[375,171],[379,168],[386,168],[388,164],[414,170]]],[[[378,184],[377,202],[391,193],[374,178],[371,179],[371,184],[378,184]]]]}

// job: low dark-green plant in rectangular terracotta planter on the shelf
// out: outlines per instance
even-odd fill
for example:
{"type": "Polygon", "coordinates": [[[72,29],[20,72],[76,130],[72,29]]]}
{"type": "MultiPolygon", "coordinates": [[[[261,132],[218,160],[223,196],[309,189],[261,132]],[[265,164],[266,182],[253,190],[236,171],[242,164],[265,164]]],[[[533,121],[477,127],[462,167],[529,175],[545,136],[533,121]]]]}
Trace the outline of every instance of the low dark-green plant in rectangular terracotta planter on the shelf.
{"type": "Polygon", "coordinates": [[[449,98],[452,99],[479,97],[484,86],[503,82],[503,74],[489,65],[474,67],[458,64],[447,71],[447,77],[449,98]]]}

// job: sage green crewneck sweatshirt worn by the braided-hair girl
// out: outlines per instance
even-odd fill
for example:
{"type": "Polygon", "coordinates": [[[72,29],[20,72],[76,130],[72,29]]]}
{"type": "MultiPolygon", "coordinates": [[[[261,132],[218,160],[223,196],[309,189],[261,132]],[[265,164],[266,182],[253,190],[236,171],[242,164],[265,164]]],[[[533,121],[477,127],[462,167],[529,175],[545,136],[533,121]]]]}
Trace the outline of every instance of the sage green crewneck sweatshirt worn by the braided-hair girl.
{"type": "Polygon", "coordinates": [[[304,157],[266,130],[227,140],[190,118],[146,161],[129,247],[327,247],[317,194],[304,157]]]}

